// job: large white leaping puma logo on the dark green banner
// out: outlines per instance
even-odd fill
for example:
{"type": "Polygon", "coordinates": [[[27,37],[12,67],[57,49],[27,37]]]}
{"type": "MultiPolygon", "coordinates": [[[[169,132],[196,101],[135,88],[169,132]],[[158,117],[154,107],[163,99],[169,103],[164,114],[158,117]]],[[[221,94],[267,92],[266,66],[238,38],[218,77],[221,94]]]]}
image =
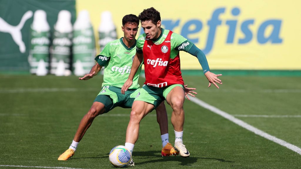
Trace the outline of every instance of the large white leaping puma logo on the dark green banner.
{"type": "Polygon", "coordinates": [[[27,11],[23,15],[20,23],[17,26],[12,26],[8,24],[5,20],[0,17],[0,32],[5,32],[11,34],[14,42],[19,46],[19,50],[21,53],[25,53],[26,47],[24,42],[22,41],[22,32],[21,29],[24,26],[26,20],[33,16],[33,11],[27,11]]]}

